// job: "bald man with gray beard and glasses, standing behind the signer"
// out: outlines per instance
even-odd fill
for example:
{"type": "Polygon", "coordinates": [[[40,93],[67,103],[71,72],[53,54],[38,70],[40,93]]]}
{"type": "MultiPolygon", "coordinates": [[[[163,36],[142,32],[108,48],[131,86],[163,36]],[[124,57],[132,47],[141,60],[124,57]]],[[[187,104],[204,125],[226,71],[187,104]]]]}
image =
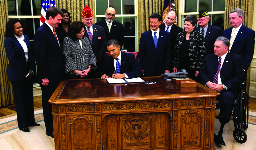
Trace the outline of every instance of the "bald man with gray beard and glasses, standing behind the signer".
{"type": "Polygon", "coordinates": [[[121,23],[115,20],[115,9],[109,7],[105,12],[106,20],[95,23],[104,28],[107,42],[111,39],[118,41],[121,48],[124,44],[124,27],[121,23]]]}

